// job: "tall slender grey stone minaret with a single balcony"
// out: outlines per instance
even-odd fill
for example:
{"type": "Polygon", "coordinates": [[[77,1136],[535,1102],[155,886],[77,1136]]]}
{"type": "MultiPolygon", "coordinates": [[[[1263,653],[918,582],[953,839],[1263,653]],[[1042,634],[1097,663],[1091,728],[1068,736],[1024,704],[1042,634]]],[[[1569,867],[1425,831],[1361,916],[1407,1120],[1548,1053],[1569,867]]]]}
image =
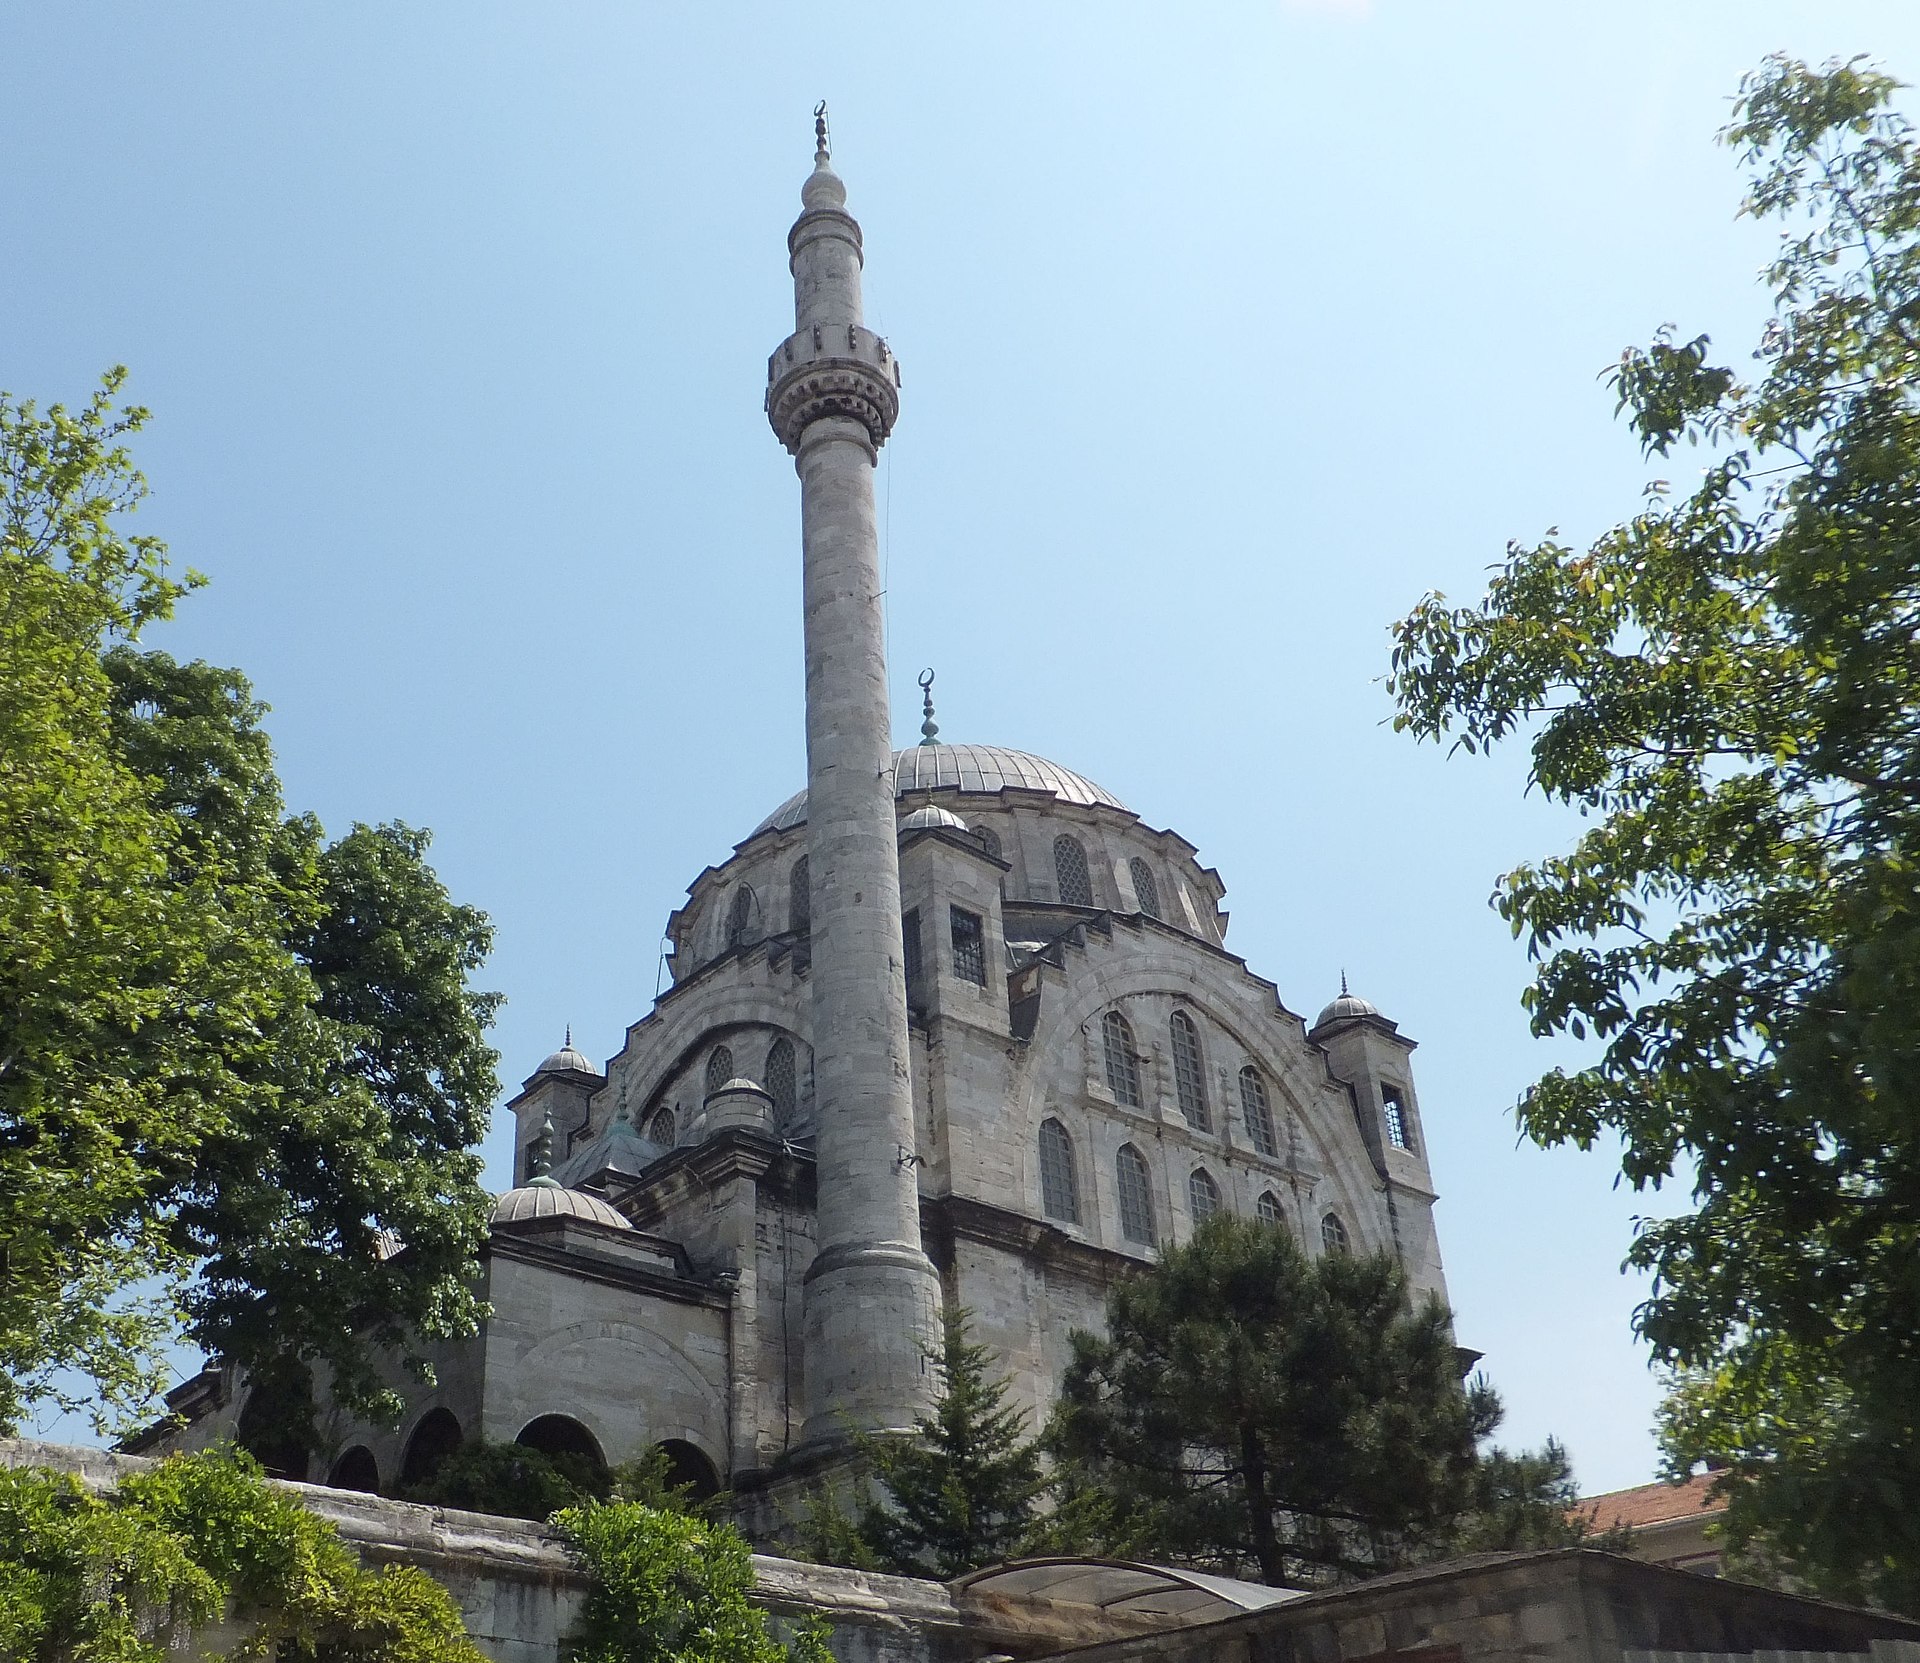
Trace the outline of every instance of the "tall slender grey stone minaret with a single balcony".
{"type": "Polygon", "coordinates": [[[920,1248],[900,949],[900,847],[874,465],[900,371],[860,321],[860,227],[814,111],[814,171],[787,232],[793,334],[766,415],[801,476],[806,868],[818,1252],[806,1271],[806,1442],[904,1429],[931,1390],[939,1279],[920,1248]]]}

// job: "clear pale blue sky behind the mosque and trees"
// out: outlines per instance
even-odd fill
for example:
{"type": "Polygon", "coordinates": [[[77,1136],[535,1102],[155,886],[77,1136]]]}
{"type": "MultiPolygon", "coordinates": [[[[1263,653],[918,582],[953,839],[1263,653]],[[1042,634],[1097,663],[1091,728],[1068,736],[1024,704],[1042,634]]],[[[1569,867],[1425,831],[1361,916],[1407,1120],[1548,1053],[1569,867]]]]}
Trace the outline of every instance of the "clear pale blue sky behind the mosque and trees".
{"type": "MultiPolygon", "coordinates": [[[[1388,626],[1645,474],[1599,371],[1743,361],[1772,232],[1713,144],[1766,52],[1920,75],[1899,4],[0,6],[0,386],[154,409],[142,530],[211,580],[288,797],[430,826],[499,929],[509,1081],[618,1048],[685,883],[803,782],[797,490],[760,415],[831,100],[900,743],[1016,745],[1200,845],[1231,945],[1415,1058],[1507,1434],[1651,1477],[1605,1154],[1494,878],[1572,824],[1388,732],[1388,626]]],[[[1667,465],[1690,467],[1688,461],[1667,465]]],[[[488,1143],[503,1179],[503,1127],[488,1143]]],[[[1668,1202],[1670,1204],[1670,1202],[1668,1202]]]]}

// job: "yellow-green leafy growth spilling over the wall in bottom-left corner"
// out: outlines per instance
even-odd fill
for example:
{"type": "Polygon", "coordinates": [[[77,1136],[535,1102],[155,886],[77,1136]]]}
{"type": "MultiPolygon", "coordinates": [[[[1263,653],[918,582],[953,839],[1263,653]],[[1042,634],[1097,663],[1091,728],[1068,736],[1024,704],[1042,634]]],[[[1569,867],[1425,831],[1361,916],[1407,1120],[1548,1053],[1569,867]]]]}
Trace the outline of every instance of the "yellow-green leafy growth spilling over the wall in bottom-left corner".
{"type": "Polygon", "coordinates": [[[234,1655],[480,1663],[445,1590],[361,1569],[246,1454],[169,1456],[108,1494],[0,1469],[0,1657],[167,1663],[223,1617],[234,1655]]]}

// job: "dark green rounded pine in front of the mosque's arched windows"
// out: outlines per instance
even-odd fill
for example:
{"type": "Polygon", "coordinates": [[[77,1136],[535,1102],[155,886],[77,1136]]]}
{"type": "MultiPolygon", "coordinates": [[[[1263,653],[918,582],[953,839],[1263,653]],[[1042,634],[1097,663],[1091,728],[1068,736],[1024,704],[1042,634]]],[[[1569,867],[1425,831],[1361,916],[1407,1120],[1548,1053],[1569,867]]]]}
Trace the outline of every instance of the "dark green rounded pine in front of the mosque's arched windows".
{"type": "Polygon", "coordinates": [[[1319,1586],[1452,1550],[1500,1500],[1498,1421],[1392,1256],[1219,1216],[1114,1289],[1106,1338],[1073,1335],[1048,1446],[1146,1552],[1319,1586]]]}

